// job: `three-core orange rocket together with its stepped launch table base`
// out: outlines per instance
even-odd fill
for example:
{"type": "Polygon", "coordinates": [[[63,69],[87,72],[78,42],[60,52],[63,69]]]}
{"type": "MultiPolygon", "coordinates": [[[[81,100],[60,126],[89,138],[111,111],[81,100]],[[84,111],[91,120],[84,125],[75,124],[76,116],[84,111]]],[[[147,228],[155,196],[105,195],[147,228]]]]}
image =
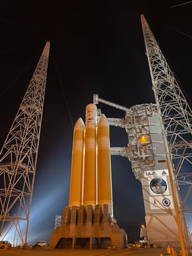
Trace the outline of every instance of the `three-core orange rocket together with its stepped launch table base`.
{"type": "Polygon", "coordinates": [[[74,127],[69,206],[52,232],[52,248],[106,248],[127,245],[113,216],[109,124],[95,104],[86,106],[86,125],[74,127]]]}

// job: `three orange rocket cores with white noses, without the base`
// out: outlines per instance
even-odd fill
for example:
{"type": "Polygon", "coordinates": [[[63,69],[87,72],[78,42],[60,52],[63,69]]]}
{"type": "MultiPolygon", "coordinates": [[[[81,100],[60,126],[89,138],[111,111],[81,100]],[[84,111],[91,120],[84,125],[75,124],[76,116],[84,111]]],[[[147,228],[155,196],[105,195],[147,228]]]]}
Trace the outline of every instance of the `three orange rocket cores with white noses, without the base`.
{"type": "Polygon", "coordinates": [[[86,127],[79,118],[74,128],[69,207],[97,203],[113,218],[109,124],[104,114],[97,124],[97,107],[88,104],[86,127]]]}

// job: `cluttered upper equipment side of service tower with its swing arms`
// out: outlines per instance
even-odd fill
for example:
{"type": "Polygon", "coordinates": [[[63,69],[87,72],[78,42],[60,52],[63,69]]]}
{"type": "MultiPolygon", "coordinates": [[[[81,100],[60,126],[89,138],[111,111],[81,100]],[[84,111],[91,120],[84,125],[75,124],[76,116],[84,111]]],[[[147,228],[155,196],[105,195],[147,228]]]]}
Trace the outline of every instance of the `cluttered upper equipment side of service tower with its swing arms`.
{"type": "Polygon", "coordinates": [[[100,102],[126,112],[125,118],[107,118],[110,126],[126,129],[128,134],[128,147],[111,147],[111,155],[121,155],[128,158],[134,175],[140,180],[141,167],[154,165],[154,153],[147,117],[157,113],[157,105],[141,104],[128,109],[99,98],[97,94],[94,95],[93,102],[94,104],[100,102]]]}

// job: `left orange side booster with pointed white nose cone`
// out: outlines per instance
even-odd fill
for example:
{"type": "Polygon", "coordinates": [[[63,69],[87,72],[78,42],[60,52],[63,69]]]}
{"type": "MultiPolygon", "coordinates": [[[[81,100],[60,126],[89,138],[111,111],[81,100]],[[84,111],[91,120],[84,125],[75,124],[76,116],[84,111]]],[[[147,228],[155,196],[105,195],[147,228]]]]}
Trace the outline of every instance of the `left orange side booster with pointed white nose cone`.
{"type": "Polygon", "coordinates": [[[72,146],[72,169],[69,193],[69,207],[81,206],[83,200],[83,150],[84,150],[84,130],[85,125],[82,118],[74,127],[72,146]]]}

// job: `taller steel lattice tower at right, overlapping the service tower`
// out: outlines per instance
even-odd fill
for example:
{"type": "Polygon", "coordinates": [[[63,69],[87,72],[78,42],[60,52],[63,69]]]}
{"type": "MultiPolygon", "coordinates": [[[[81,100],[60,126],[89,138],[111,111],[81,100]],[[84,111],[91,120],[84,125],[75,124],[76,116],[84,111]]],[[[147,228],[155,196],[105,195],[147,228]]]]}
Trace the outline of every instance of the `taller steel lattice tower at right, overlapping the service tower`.
{"type": "Polygon", "coordinates": [[[192,189],[191,107],[143,15],[141,22],[152,89],[167,138],[168,161],[172,166],[172,175],[175,176],[179,186],[179,194],[182,196],[179,211],[184,209],[186,214],[192,213],[191,203],[188,202],[192,189]],[[182,185],[185,185],[185,189],[182,189],[182,185]]]}

